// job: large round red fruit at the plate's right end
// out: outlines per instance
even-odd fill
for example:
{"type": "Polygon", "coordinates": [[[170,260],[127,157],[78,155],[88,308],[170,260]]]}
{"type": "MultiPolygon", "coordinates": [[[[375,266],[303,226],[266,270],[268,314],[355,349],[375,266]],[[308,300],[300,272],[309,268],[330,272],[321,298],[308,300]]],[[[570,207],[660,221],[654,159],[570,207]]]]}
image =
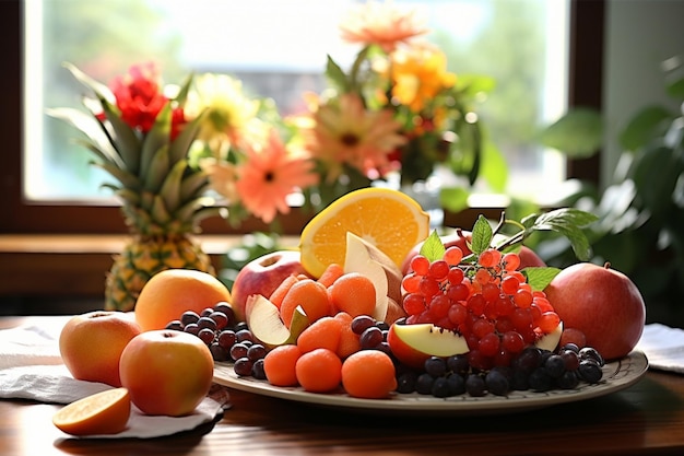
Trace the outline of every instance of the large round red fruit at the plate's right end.
{"type": "Polygon", "coordinates": [[[625,356],[641,338],[644,299],[634,282],[609,264],[569,266],[544,292],[565,327],[582,331],[587,344],[608,360],[625,356]]]}

